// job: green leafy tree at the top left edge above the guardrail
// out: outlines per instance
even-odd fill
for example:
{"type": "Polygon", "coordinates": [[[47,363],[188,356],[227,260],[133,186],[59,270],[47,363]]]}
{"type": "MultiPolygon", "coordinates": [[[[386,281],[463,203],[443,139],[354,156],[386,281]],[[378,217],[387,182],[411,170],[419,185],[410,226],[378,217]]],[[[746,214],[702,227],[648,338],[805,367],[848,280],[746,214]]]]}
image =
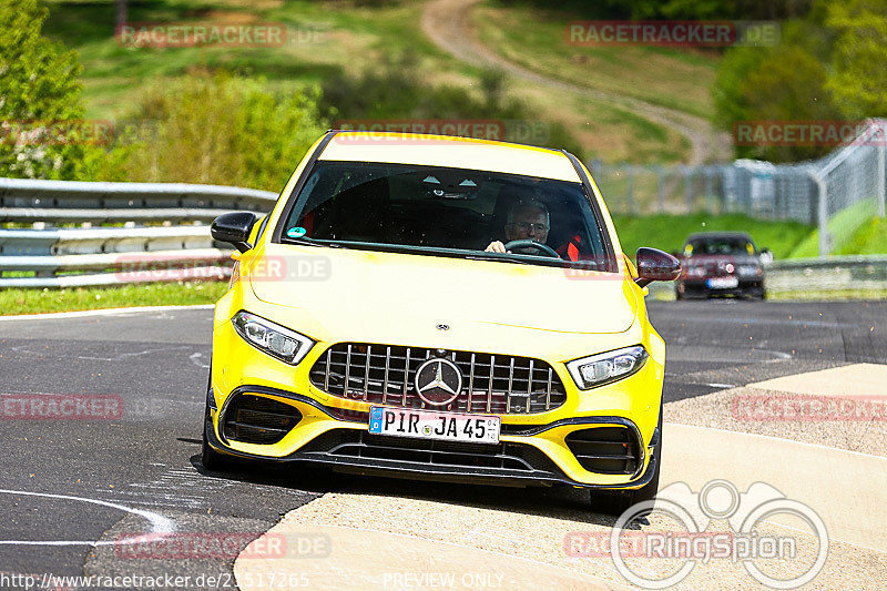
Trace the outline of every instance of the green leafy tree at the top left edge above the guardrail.
{"type": "Polygon", "coordinates": [[[80,62],[40,34],[47,16],[37,0],[0,3],[0,176],[65,177],[81,151],[49,131],[83,108],[80,62]]]}

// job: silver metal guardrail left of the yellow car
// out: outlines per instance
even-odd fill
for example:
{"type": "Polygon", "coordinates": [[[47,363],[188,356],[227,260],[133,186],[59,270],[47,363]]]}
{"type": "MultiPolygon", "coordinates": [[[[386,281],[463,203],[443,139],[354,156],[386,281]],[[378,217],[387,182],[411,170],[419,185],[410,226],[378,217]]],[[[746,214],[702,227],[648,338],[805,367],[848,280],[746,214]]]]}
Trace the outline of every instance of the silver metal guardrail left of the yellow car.
{"type": "Polygon", "coordinates": [[[276,200],[216,185],[0,179],[0,223],[31,226],[0,228],[0,287],[223,278],[231,248],[212,240],[208,223],[268,212],[276,200]]]}

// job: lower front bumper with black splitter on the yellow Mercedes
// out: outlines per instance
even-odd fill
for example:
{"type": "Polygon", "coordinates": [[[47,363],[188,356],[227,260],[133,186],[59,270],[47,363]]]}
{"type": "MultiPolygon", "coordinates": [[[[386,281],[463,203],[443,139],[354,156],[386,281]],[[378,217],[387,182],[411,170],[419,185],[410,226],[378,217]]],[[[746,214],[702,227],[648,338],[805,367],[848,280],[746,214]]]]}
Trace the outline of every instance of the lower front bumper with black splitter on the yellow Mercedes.
{"type": "MultiPolygon", "coordinates": [[[[506,486],[550,486],[570,485],[581,488],[635,489],[653,478],[656,469],[655,449],[660,442],[659,427],[648,446],[643,446],[640,431],[630,420],[622,417],[575,417],[551,424],[534,426],[502,425],[503,435],[497,446],[475,444],[451,444],[447,441],[401,439],[370,435],[367,431],[367,417],[358,414],[344,417],[340,409],[328,408],[316,400],[284,390],[263,387],[243,387],[233,393],[228,400],[243,394],[263,395],[274,399],[287,399],[299,409],[303,421],[306,416],[320,412],[335,426],[312,437],[298,450],[286,456],[274,457],[263,454],[267,446],[223,442],[216,427],[221,411],[211,409],[204,425],[206,440],[214,449],[235,457],[275,462],[316,462],[327,465],[339,471],[361,475],[396,476],[426,480],[453,482],[476,482],[506,486]],[[552,431],[568,432],[590,427],[621,426],[635,434],[642,451],[638,469],[631,475],[609,482],[578,480],[568,475],[549,455],[540,449],[539,442],[548,440],[552,431]],[[508,432],[509,435],[504,435],[508,432]],[[236,446],[236,448],[235,448],[236,446]],[[623,481],[619,481],[619,480],[623,481]]],[[[364,414],[366,415],[366,414],[364,414]]],[[[316,420],[309,421],[312,424],[316,420]]],[[[299,422],[302,425],[302,421],[299,422]]],[[[298,427],[294,429],[297,431],[298,427]]],[[[267,451],[267,450],[265,450],[267,451]]],[[[569,449],[565,451],[570,454],[569,449]]],[[[598,475],[599,477],[601,475],[598,475]]]]}

